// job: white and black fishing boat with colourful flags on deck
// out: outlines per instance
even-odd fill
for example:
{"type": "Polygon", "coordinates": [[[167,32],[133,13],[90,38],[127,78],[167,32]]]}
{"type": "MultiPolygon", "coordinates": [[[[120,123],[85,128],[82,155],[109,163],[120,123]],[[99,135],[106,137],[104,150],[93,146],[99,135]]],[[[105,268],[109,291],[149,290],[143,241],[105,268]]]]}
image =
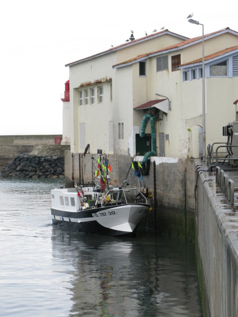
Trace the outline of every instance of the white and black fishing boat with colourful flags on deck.
{"type": "Polygon", "coordinates": [[[111,236],[132,235],[150,208],[148,188],[114,187],[101,159],[98,159],[100,183],[95,186],[59,188],[51,191],[52,222],[68,230],[111,236]],[[104,171],[105,170],[105,171],[104,171]]]}

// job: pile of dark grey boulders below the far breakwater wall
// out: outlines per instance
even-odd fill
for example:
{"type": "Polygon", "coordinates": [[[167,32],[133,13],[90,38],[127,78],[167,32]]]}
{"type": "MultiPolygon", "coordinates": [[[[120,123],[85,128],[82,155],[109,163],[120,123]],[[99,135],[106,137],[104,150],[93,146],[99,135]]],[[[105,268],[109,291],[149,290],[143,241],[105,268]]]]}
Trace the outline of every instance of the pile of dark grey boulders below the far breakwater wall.
{"type": "Polygon", "coordinates": [[[22,154],[2,168],[0,177],[33,179],[63,178],[64,157],[39,157],[22,154]]]}

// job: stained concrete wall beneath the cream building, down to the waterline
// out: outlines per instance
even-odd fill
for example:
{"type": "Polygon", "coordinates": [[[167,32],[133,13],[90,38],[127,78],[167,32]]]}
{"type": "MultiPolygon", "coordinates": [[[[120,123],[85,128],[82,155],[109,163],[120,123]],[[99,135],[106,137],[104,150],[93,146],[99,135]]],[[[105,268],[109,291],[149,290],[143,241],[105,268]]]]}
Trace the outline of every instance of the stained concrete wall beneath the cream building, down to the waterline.
{"type": "MultiPolygon", "coordinates": [[[[142,161],[143,157],[136,160],[142,161]]],[[[131,168],[129,156],[109,155],[111,182],[121,186],[126,179],[131,186],[138,186],[139,177],[131,168]]],[[[65,151],[65,186],[72,187],[71,178],[78,184],[95,181],[96,154],[72,154],[65,151]],[[93,159],[92,159],[93,158],[93,159]],[[93,162],[92,162],[93,161],[93,162]]],[[[193,159],[151,158],[149,174],[143,176],[152,191],[153,212],[143,226],[158,233],[171,234],[195,240],[193,159]]]]}

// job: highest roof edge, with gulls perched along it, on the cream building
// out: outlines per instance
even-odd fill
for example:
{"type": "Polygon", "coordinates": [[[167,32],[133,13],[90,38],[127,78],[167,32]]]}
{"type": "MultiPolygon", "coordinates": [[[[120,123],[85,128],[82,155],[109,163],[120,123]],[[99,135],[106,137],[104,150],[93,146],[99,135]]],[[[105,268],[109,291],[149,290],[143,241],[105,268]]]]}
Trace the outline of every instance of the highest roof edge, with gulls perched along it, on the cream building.
{"type": "Polygon", "coordinates": [[[121,49],[123,49],[123,48],[125,48],[125,47],[129,47],[129,46],[131,46],[131,45],[135,45],[135,44],[138,44],[138,43],[141,43],[141,42],[144,42],[144,41],[148,41],[148,40],[150,40],[150,39],[153,39],[153,38],[156,38],[156,37],[158,37],[158,36],[165,35],[165,34],[173,35],[173,36],[175,36],[175,37],[180,38],[181,40],[182,40],[182,39],[183,39],[183,40],[188,39],[188,38],[185,37],[185,36],[179,35],[179,34],[177,34],[177,33],[173,33],[173,32],[171,32],[171,31],[169,31],[168,29],[166,29],[166,30],[163,30],[163,31],[161,31],[161,32],[153,33],[153,34],[144,36],[144,37],[142,37],[142,38],[139,38],[139,39],[130,41],[130,42],[128,42],[128,43],[124,43],[124,44],[115,46],[114,48],[111,48],[111,49],[109,49],[109,50],[107,50],[107,51],[103,51],[103,52],[101,52],[101,53],[97,53],[97,54],[94,54],[94,55],[91,55],[91,56],[88,56],[88,57],[85,57],[85,58],[76,60],[76,61],[74,61],[74,62],[68,63],[68,64],[65,65],[65,67],[67,67],[67,66],[72,66],[72,65],[75,65],[75,64],[78,64],[78,63],[82,63],[82,62],[87,61],[87,60],[89,60],[89,59],[93,59],[93,58],[95,58],[95,57],[99,57],[99,56],[102,56],[102,55],[105,55],[105,54],[113,53],[113,52],[116,52],[116,51],[118,51],[118,50],[121,50],[121,49]]]}

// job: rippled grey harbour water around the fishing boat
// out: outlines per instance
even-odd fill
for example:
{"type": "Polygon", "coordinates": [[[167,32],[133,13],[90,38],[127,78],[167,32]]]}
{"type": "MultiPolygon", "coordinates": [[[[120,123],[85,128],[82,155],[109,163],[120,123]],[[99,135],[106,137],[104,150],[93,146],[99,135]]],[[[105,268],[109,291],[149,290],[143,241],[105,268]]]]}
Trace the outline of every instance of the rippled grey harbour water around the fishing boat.
{"type": "Polygon", "coordinates": [[[63,180],[0,179],[0,316],[201,317],[195,246],[52,226],[63,180]]]}

